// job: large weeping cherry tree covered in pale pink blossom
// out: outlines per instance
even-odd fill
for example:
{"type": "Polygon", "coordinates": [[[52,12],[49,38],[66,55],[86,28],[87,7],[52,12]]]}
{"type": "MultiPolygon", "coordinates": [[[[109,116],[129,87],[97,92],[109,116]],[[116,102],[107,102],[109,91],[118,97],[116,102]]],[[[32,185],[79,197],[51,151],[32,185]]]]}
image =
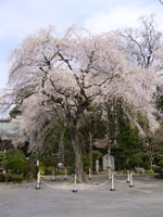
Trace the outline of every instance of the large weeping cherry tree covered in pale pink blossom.
{"type": "MultiPolygon", "coordinates": [[[[32,146],[45,122],[59,119],[62,114],[70,128],[79,179],[83,161],[78,132],[90,106],[121,98],[133,114],[147,116],[152,130],[158,127],[152,93],[159,76],[153,68],[139,68],[126,60],[121,48],[120,37],[113,34],[91,36],[86,29],[71,27],[58,36],[49,28],[27,37],[10,58],[8,99],[10,95],[10,102],[22,108],[17,118],[32,146]]],[[[128,113],[128,117],[138,126],[136,116],[128,113]]]]}

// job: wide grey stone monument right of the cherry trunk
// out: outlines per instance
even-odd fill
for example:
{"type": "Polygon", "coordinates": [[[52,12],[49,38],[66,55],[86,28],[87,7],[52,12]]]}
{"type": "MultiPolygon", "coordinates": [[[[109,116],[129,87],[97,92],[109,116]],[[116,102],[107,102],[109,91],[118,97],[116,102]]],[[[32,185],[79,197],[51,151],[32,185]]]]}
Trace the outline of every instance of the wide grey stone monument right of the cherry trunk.
{"type": "Polygon", "coordinates": [[[115,170],[114,156],[111,155],[111,150],[109,148],[108,154],[103,156],[103,171],[111,169],[115,170]]]}

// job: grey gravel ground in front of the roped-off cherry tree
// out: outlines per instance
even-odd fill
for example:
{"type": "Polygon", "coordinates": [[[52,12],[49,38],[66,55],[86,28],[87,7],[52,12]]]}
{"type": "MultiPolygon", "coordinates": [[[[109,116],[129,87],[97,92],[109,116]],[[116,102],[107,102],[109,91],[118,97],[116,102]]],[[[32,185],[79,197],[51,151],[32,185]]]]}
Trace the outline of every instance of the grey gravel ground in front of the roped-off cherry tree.
{"type": "Polygon", "coordinates": [[[117,176],[115,191],[110,191],[106,176],[93,176],[86,186],[77,183],[73,193],[71,180],[55,181],[43,177],[40,190],[36,183],[0,184],[0,217],[163,217],[163,180],[153,176],[134,176],[134,188],[117,176]],[[49,184],[49,186],[48,186],[49,184]],[[96,186],[97,184],[97,186],[96,186]]]}

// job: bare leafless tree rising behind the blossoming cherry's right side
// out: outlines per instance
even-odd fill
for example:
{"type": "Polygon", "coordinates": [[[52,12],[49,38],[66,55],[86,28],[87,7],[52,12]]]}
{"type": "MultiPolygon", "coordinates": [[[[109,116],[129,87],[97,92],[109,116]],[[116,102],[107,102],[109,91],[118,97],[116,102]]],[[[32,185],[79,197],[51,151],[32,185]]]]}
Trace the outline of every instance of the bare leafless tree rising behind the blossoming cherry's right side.
{"type": "Polygon", "coordinates": [[[161,49],[162,33],[158,30],[154,16],[140,16],[139,28],[127,28],[121,33],[129,60],[147,68],[156,63],[156,52],[161,49]]]}

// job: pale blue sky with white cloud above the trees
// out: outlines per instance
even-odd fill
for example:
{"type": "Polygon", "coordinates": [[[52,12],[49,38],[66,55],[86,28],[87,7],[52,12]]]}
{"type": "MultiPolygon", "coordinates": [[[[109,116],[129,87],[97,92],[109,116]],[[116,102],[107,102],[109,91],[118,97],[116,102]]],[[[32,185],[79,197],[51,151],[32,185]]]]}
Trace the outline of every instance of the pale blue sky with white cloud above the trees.
{"type": "Polygon", "coordinates": [[[159,0],[0,0],[0,89],[8,81],[8,58],[24,38],[39,28],[71,25],[92,34],[135,27],[140,15],[155,14],[163,29],[163,5],[159,0]]]}

